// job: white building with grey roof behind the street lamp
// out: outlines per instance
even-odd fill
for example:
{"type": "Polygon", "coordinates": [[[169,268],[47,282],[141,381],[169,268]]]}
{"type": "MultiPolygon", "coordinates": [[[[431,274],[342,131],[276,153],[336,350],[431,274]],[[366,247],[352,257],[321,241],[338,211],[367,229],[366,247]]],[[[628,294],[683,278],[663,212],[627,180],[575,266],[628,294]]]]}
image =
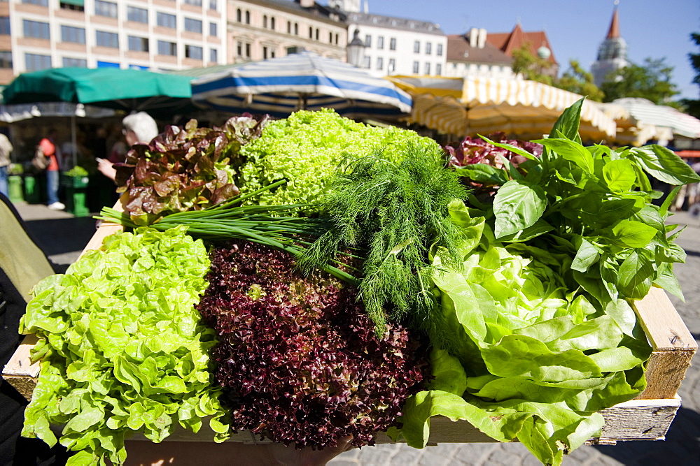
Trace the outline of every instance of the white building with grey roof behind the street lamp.
{"type": "Polygon", "coordinates": [[[359,11],[346,13],[349,36],[357,29],[365,43],[361,67],[372,75],[444,73],[447,37],[440,24],[359,11]]]}

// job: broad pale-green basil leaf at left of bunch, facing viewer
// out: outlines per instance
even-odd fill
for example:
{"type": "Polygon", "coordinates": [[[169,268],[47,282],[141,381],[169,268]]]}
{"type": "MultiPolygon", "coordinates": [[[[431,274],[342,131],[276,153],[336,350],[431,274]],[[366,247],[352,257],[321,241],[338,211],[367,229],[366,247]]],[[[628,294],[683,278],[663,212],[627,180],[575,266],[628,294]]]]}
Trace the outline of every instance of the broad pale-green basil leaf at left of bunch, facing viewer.
{"type": "Polygon", "coordinates": [[[493,198],[496,238],[534,225],[542,217],[545,207],[547,196],[538,185],[521,180],[510,180],[503,184],[493,198]]]}

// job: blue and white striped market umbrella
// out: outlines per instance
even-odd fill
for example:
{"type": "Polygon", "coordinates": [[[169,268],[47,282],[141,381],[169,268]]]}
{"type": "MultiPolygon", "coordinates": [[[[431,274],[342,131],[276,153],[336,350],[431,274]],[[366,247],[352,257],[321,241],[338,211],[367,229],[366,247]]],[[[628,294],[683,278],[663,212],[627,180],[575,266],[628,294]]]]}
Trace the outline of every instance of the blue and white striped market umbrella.
{"type": "Polygon", "coordinates": [[[333,108],[346,117],[398,117],[411,97],[392,82],[312,52],[256,61],[192,81],[192,99],[224,112],[269,113],[333,108]]]}

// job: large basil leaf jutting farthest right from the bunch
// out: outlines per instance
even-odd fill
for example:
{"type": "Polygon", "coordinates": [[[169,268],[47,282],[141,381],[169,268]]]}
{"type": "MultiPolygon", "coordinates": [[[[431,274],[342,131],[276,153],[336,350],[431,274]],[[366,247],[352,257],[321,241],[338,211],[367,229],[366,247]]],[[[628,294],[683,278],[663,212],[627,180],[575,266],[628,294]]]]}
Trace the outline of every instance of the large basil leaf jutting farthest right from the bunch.
{"type": "Polygon", "coordinates": [[[636,147],[629,151],[629,157],[659,181],[675,185],[700,182],[700,176],[675,152],[664,146],[652,144],[636,147]]]}

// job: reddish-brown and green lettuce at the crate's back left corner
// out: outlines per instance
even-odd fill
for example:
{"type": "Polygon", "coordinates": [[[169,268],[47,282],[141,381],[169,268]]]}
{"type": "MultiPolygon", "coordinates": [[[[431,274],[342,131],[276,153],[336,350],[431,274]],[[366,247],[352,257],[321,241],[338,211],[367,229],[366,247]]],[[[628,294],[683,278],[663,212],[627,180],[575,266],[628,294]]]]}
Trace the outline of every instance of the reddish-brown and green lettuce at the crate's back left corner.
{"type": "Polygon", "coordinates": [[[127,191],[132,221],[152,224],[160,217],[217,205],[239,193],[241,146],[260,136],[267,118],[233,117],[223,128],[168,126],[150,144],[136,144],[125,163],[115,164],[117,191],[127,191]]]}

